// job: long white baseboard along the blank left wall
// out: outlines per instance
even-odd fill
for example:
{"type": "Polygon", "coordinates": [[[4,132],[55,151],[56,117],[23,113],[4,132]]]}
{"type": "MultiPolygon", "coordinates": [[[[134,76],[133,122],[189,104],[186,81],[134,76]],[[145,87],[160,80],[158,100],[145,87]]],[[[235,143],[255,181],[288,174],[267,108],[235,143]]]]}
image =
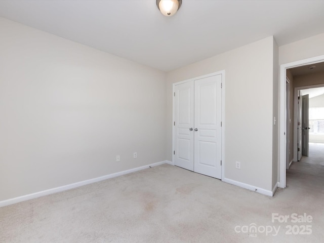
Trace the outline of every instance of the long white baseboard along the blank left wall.
{"type": "Polygon", "coordinates": [[[17,203],[20,203],[21,201],[26,201],[26,200],[34,199],[34,198],[37,198],[37,197],[41,197],[41,196],[45,196],[45,195],[49,195],[49,194],[53,194],[53,193],[57,193],[57,192],[61,192],[61,191],[66,191],[66,190],[73,189],[73,188],[76,188],[76,187],[79,187],[79,186],[88,185],[88,184],[95,183],[95,182],[98,182],[98,181],[103,181],[103,180],[107,180],[107,179],[114,178],[114,177],[117,177],[117,176],[122,176],[122,175],[130,174],[130,173],[133,173],[133,172],[136,172],[136,171],[141,171],[141,170],[144,170],[144,169],[148,169],[150,167],[159,166],[159,165],[163,165],[163,164],[170,164],[170,163],[172,164],[171,161],[164,160],[164,161],[153,163],[153,164],[150,164],[150,165],[147,165],[147,166],[141,166],[141,167],[137,167],[137,168],[126,170],[126,171],[116,172],[116,173],[113,173],[113,174],[109,174],[109,175],[105,175],[105,176],[101,176],[101,177],[97,177],[97,178],[93,178],[93,179],[89,179],[89,180],[85,180],[85,181],[80,181],[80,182],[68,184],[68,185],[65,185],[65,186],[59,186],[59,187],[51,188],[51,189],[44,190],[44,191],[38,191],[38,192],[31,193],[31,194],[10,198],[10,199],[7,199],[7,200],[0,201],[0,208],[8,206],[8,205],[12,205],[12,204],[17,204],[17,203]]]}

